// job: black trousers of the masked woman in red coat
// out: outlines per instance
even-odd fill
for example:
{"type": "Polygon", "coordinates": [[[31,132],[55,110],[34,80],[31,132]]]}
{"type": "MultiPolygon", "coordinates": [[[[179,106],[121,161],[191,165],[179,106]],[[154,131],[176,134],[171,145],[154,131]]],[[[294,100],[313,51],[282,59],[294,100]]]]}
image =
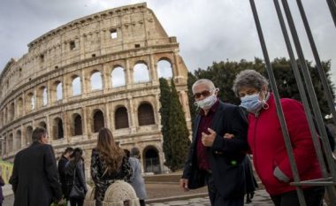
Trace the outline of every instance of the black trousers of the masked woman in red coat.
{"type": "MultiPolygon", "coordinates": [[[[307,206],[322,206],[325,195],[325,187],[309,187],[303,189],[304,199],[307,206]]],[[[275,206],[298,206],[299,197],[296,190],[284,193],[282,195],[271,195],[271,200],[275,206]]]]}

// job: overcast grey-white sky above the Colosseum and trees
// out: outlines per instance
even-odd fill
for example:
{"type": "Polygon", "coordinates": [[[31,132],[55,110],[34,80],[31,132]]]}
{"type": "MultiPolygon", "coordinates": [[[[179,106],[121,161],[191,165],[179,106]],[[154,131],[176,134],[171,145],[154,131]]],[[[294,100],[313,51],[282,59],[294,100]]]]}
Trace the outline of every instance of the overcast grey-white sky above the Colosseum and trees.
{"type": "MultiPolygon", "coordinates": [[[[95,12],[136,4],[136,0],[3,0],[0,6],[0,71],[11,57],[27,53],[27,44],[50,30],[95,12]]],[[[313,60],[296,1],[290,0],[305,57],[313,60]]],[[[332,60],[336,83],[336,27],[326,0],[302,0],[322,60],[332,60]]],[[[248,0],[147,1],[167,34],[176,36],[189,71],[214,61],[262,57],[248,0]]],[[[288,57],[273,1],[256,0],[271,59],[288,57]]]]}

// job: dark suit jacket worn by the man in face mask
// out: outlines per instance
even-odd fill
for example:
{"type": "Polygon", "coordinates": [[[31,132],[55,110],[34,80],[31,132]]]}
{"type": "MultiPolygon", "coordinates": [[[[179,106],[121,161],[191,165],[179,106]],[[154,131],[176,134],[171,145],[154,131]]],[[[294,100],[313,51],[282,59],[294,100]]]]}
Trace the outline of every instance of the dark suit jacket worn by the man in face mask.
{"type": "MultiPolygon", "coordinates": [[[[204,186],[205,172],[198,169],[196,159],[197,129],[201,117],[195,118],[193,141],[190,145],[183,179],[188,179],[189,188],[204,186]]],[[[218,109],[212,119],[211,129],[217,136],[211,148],[207,148],[210,170],[218,192],[224,198],[240,198],[246,192],[245,166],[241,164],[248,151],[248,122],[241,108],[219,101],[218,109]],[[234,138],[225,139],[224,134],[233,134],[234,138]]]]}

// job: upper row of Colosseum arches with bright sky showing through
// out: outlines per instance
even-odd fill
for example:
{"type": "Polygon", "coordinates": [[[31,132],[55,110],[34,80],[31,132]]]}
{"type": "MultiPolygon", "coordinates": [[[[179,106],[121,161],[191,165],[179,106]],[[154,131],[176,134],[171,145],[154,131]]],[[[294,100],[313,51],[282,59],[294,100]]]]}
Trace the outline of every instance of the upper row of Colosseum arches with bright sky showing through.
{"type": "MultiPolygon", "coordinates": [[[[172,78],[171,62],[165,58],[159,60],[157,62],[157,72],[158,77],[172,78]]],[[[143,61],[137,62],[134,65],[133,75],[135,84],[150,81],[149,67],[143,61]]],[[[121,65],[114,66],[110,78],[111,88],[126,86],[126,69],[121,65]]],[[[103,73],[99,70],[93,70],[90,74],[88,83],[90,91],[83,89],[83,80],[80,74],[73,74],[69,82],[71,83],[64,85],[63,80],[56,80],[50,85],[50,88],[48,88],[47,85],[43,85],[40,88],[27,91],[23,96],[19,96],[15,102],[11,102],[1,111],[0,126],[4,126],[4,124],[11,122],[14,118],[20,117],[25,113],[47,106],[50,102],[57,103],[64,99],[64,97],[72,97],[87,92],[103,90],[105,84],[103,73]],[[66,94],[67,96],[65,96],[65,93],[68,93],[66,94]]]]}

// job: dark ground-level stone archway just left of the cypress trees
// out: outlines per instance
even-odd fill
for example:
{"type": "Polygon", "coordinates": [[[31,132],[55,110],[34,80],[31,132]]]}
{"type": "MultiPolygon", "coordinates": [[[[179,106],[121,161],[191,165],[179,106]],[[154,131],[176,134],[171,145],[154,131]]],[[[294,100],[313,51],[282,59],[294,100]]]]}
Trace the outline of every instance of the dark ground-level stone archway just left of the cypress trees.
{"type": "Polygon", "coordinates": [[[145,172],[161,173],[159,151],[155,146],[149,145],[143,149],[142,156],[145,172]]]}

